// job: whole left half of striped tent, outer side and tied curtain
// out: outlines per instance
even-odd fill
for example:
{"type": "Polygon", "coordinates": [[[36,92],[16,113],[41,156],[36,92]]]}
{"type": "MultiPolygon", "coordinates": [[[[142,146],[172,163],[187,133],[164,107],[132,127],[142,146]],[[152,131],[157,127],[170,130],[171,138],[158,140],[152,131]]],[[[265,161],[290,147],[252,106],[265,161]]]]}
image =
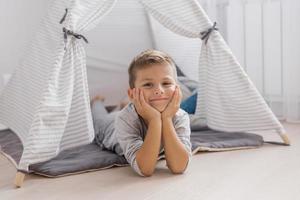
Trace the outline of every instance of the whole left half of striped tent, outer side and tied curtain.
{"type": "Polygon", "coordinates": [[[62,27],[84,34],[110,11],[112,0],[53,2],[24,60],[0,97],[0,121],[22,140],[19,169],[94,138],[82,40],[63,39],[62,27]],[[68,8],[64,23],[59,24],[68,8]]]}

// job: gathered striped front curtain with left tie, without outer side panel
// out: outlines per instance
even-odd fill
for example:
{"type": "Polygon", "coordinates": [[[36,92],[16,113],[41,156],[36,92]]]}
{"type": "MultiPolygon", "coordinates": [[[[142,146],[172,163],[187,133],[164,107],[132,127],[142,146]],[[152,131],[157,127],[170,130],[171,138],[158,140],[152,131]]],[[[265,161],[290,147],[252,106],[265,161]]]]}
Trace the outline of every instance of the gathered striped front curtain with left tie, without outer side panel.
{"type": "MultiPolygon", "coordinates": [[[[95,24],[93,20],[98,19],[97,16],[106,14],[113,5],[113,1],[71,1],[63,26],[74,33],[82,34],[95,24]],[[96,9],[97,7],[102,9],[96,9]]],[[[61,34],[61,31],[58,34],[61,34]]],[[[42,159],[54,157],[61,150],[90,143],[94,138],[86,76],[86,55],[82,41],[68,37],[67,43],[62,44],[60,48],[63,53],[59,55],[58,65],[52,70],[53,79],[49,81],[42,95],[28,137],[31,139],[28,140],[28,145],[25,145],[28,150],[24,149],[21,158],[19,167],[22,169],[42,159]],[[50,126],[45,127],[45,123],[50,123],[50,126]],[[52,132],[51,135],[43,137],[43,133],[47,134],[48,131],[52,132]],[[43,139],[51,141],[46,143],[49,146],[47,150],[41,150],[46,146],[43,139]],[[47,156],[41,157],[40,152],[47,156]]]]}

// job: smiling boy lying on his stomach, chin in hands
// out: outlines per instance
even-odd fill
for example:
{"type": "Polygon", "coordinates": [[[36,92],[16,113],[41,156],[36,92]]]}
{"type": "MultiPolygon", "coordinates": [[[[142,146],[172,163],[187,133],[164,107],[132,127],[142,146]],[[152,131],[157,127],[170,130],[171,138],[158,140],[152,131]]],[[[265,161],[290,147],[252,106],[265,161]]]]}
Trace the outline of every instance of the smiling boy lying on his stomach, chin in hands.
{"type": "Polygon", "coordinates": [[[191,157],[191,131],[188,114],[179,108],[181,92],[173,60],[147,50],[133,59],[128,73],[131,103],[116,116],[112,134],[98,135],[97,142],[124,155],[141,176],[153,174],[163,152],[170,171],[183,173],[191,157]]]}

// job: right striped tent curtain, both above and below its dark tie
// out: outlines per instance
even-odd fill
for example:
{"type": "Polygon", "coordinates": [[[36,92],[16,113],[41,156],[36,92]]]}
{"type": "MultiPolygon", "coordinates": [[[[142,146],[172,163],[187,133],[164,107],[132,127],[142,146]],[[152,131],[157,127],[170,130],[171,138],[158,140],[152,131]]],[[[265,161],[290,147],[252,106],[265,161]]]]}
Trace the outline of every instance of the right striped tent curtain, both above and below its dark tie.
{"type": "MultiPolygon", "coordinates": [[[[198,37],[212,27],[195,0],[142,0],[145,9],[171,31],[198,37]]],[[[200,42],[200,41],[199,41],[200,42]]],[[[285,133],[237,59],[217,31],[202,43],[196,115],[222,131],[269,130],[285,133]]]]}

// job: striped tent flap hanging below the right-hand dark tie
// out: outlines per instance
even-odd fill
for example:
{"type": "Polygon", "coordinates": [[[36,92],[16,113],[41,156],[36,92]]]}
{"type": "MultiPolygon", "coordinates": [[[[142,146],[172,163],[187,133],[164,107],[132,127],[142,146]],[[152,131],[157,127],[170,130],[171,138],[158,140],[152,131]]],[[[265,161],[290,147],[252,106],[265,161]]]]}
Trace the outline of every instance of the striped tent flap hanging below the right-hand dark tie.
{"type": "MultiPolygon", "coordinates": [[[[205,99],[198,99],[196,113],[206,109],[207,125],[223,131],[284,129],[218,32],[202,45],[199,66],[205,66],[205,99]],[[204,103],[205,102],[205,103],[204,103]]],[[[202,90],[199,88],[199,92],[202,90]]]]}

